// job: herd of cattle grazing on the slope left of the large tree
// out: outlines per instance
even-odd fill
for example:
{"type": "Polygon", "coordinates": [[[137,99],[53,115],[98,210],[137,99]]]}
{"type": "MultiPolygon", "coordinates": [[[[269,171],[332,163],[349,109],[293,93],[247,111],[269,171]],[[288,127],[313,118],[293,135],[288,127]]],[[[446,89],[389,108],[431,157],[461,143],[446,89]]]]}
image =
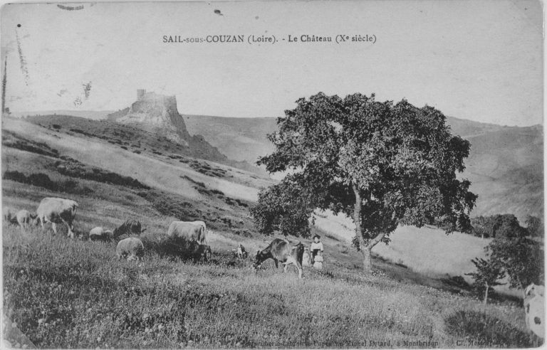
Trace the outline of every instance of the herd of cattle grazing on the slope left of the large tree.
{"type": "MultiPolygon", "coordinates": [[[[7,223],[18,223],[21,228],[28,228],[31,224],[41,224],[42,229],[46,228],[47,223],[51,223],[53,232],[57,233],[57,224],[64,224],[68,229],[68,237],[74,238],[73,221],[78,211],[78,203],[71,199],[47,197],[38,205],[36,214],[29,211],[14,211],[12,208],[4,208],[4,221],[7,223]]],[[[122,235],[132,235],[118,242],[116,255],[118,259],[127,258],[127,260],[142,260],[145,252],[145,246],[142,240],[136,238],[146,229],[138,220],[127,219],[120,227],[114,230],[105,230],[102,227],[95,227],[89,232],[90,240],[110,241],[119,238],[122,235]]],[[[167,230],[167,237],[172,241],[184,242],[185,248],[194,260],[209,261],[212,250],[207,245],[207,226],[203,221],[173,221],[167,230]],[[189,249],[189,250],[188,250],[189,249]]],[[[172,243],[174,244],[174,243],[172,243]]],[[[284,265],[286,272],[288,265],[294,264],[298,267],[298,276],[302,277],[302,258],[304,245],[298,243],[291,245],[288,240],[276,238],[264,250],[256,253],[256,262],[254,267],[258,269],[267,259],[273,259],[278,266],[278,262],[284,265]]]]}

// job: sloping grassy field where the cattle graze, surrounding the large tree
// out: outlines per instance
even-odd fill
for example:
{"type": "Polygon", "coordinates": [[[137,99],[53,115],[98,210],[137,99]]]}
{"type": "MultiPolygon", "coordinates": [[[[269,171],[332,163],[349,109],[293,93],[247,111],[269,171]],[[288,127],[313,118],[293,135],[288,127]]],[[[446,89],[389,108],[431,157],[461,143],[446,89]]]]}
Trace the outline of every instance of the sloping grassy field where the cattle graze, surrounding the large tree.
{"type": "Polygon", "coordinates": [[[479,254],[486,240],[400,228],[390,246],[375,248],[375,273],[365,276],[348,243],[350,223],[321,214],[313,232],[323,235],[325,270],[307,268],[298,280],[296,268],[285,275],[270,262],[254,272],[251,260],[233,253],[238,243],[254,253],[272,239],[256,233],[248,211],[269,179],[165,152],[135,154],[24,121],[3,123],[2,173],[11,178],[2,181],[2,205],[34,211],[41,198],[61,196],[80,206],[75,230],[83,240],[2,226],[4,313],[38,347],[531,346],[521,303],[484,305],[438,278],[469,272],[457,261],[479,254]],[[224,175],[210,176],[206,166],[224,175]],[[117,260],[115,243],[85,240],[90,228],[112,229],[125,218],[147,228],[144,263],[117,260]],[[211,262],[184,261],[157,244],[179,219],[207,222],[211,262]]]}

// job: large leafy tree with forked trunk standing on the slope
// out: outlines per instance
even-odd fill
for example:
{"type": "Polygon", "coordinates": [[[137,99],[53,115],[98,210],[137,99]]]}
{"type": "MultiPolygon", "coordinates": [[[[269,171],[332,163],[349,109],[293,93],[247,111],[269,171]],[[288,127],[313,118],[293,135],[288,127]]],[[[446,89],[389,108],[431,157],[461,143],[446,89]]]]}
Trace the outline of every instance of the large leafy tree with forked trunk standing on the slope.
{"type": "Polygon", "coordinates": [[[456,178],[470,145],[450,133],[442,112],[361,94],[320,92],[296,103],[268,136],[276,151],[258,161],[271,173],[291,173],[251,209],[262,233],[306,237],[315,209],[344,213],[355,222],[368,272],[373,246],[397,225],[442,218],[447,232],[471,228],[476,196],[469,181],[456,178]]]}

